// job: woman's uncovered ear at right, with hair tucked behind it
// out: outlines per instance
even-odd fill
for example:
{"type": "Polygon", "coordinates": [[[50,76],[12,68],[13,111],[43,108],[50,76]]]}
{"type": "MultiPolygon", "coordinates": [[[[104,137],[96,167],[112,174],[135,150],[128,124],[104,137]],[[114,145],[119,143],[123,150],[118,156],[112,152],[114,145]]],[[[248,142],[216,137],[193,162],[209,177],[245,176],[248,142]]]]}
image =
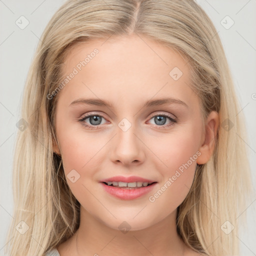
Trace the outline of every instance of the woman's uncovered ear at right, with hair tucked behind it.
{"type": "Polygon", "coordinates": [[[207,117],[205,131],[202,135],[199,151],[201,154],[197,157],[197,164],[206,163],[213,153],[216,143],[217,129],[219,125],[219,115],[216,111],[211,111],[207,117]]]}

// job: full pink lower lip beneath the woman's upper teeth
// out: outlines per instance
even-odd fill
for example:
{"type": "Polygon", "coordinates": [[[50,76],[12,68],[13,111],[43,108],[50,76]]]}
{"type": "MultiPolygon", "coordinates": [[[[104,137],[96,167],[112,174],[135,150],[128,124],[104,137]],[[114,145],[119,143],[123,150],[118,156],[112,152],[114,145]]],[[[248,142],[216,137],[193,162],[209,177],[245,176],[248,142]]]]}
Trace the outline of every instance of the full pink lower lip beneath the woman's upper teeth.
{"type": "Polygon", "coordinates": [[[131,189],[108,186],[103,182],[101,182],[101,184],[103,185],[103,188],[105,189],[105,191],[108,192],[109,194],[117,198],[120,198],[122,200],[132,200],[151,191],[154,188],[156,183],[153,183],[149,186],[141,186],[139,188],[131,188],[131,189]]]}

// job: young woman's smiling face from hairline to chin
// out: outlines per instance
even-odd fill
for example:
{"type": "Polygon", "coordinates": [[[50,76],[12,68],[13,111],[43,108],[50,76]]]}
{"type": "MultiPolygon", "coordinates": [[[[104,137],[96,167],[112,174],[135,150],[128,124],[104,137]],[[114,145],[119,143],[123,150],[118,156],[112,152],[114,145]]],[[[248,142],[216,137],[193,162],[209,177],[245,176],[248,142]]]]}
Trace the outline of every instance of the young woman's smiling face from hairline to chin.
{"type": "Polygon", "coordinates": [[[177,52],[136,35],[104,41],[76,45],[65,58],[53,148],[81,210],[138,230],[174,212],[191,187],[205,139],[199,98],[177,52]],[[101,182],[114,176],[129,186],[155,183],[101,182]]]}

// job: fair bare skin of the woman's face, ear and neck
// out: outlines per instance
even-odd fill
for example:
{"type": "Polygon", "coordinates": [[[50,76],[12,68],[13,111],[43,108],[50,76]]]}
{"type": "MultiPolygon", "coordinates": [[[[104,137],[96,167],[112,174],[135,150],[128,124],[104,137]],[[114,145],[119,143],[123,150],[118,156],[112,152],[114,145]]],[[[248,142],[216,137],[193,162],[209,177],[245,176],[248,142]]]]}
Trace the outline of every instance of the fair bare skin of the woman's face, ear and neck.
{"type": "MultiPolygon", "coordinates": [[[[76,45],[65,58],[62,74],[68,75],[84,56],[94,48],[99,50],[58,92],[58,141],[53,141],[53,149],[62,157],[65,175],[72,169],[79,173],[74,183],[66,180],[81,204],[80,226],[57,247],[61,256],[199,255],[185,246],[176,232],[176,208],[191,187],[196,163],[207,162],[213,152],[218,114],[212,111],[208,115],[203,130],[200,99],[189,87],[185,60],[166,46],[140,37],[93,39],[76,45]],[[175,66],[183,73],[176,81],[169,75],[175,66]],[[178,103],[143,107],[146,100],[166,96],[184,101],[187,107],[178,103]],[[112,107],[70,106],[79,98],[108,100],[112,107]],[[78,121],[85,113],[103,115],[97,129],[78,121]],[[153,115],[164,113],[177,122],[166,117],[160,125],[153,115]],[[118,126],[123,118],[131,124],[126,131],[118,126]],[[150,202],[148,197],[197,151],[200,156],[150,202]],[[158,183],[146,195],[121,200],[106,193],[99,183],[115,175],[137,175],[158,183]],[[130,225],[127,233],[118,228],[123,221],[130,225]]],[[[83,122],[95,123],[89,118],[83,122]]]]}

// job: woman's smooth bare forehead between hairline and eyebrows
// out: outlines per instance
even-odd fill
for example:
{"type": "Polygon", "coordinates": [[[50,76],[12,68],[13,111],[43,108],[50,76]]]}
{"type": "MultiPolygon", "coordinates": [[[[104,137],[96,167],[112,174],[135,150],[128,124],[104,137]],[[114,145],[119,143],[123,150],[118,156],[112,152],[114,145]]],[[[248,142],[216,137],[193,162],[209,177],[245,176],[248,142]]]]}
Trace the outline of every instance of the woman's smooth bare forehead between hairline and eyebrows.
{"type": "Polygon", "coordinates": [[[67,52],[64,63],[63,79],[75,72],[60,91],[70,100],[82,93],[99,98],[130,97],[129,102],[131,97],[142,100],[168,94],[185,101],[192,93],[183,56],[141,35],[80,42],[67,52]]]}

